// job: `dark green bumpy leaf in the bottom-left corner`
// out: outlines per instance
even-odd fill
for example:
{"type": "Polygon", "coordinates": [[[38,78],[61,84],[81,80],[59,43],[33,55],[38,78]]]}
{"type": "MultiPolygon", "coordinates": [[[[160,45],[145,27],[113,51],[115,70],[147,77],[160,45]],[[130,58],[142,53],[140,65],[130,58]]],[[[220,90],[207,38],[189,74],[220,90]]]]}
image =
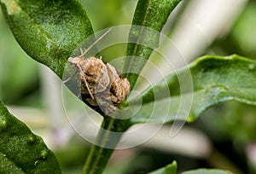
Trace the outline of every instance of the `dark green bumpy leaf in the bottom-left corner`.
{"type": "Polygon", "coordinates": [[[61,173],[41,137],[10,114],[0,101],[0,173],[61,173]]]}

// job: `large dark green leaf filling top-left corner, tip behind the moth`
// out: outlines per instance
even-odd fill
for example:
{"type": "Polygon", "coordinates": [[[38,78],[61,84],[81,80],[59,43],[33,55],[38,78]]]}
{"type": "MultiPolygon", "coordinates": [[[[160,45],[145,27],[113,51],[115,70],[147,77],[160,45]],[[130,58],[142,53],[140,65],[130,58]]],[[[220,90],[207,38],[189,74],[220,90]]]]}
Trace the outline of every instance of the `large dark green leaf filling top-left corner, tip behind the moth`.
{"type": "Polygon", "coordinates": [[[61,77],[67,58],[93,31],[76,0],[1,0],[3,14],[22,47],[61,77]]]}

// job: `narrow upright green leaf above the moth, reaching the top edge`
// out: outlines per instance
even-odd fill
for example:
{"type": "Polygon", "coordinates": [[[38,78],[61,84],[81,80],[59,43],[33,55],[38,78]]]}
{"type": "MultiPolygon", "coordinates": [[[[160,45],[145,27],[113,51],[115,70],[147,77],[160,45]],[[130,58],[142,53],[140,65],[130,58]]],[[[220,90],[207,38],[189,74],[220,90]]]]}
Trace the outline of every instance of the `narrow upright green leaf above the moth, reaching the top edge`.
{"type": "Polygon", "coordinates": [[[134,55],[143,59],[128,57],[125,60],[124,72],[130,81],[131,89],[137,81],[154,48],[159,44],[160,31],[172,10],[181,0],[139,0],[135,11],[126,55],[134,55]],[[136,43],[136,44],[134,44],[136,43]]]}

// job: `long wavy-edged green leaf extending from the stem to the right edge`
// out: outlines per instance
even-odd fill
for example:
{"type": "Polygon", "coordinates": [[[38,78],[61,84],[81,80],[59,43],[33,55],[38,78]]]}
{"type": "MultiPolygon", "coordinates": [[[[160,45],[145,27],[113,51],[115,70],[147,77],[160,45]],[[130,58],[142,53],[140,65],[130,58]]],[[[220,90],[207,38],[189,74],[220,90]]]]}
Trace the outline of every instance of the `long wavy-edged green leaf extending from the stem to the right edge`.
{"type": "MultiPolygon", "coordinates": [[[[238,55],[201,57],[189,67],[176,74],[168,75],[165,78],[166,81],[163,80],[145,90],[142,94],[143,105],[136,116],[131,118],[131,122],[164,123],[174,119],[192,121],[208,107],[230,100],[256,105],[255,79],[256,61],[238,55]],[[189,73],[191,73],[193,84],[189,80],[186,84],[189,73]],[[181,94],[179,89],[181,81],[185,87],[193,85],[192,91],[184,89],[181,94]],[[166,95],[166,92],[163,92],[165,90],[169,90],[171,96],[166,95]],[[190,103],[186,103],[189,100],[186,99],[192,95],[190,108],[190,103]],[[189,118],[180,104],[187,106],[184,109],[189,111],[189,118]]],[[[130,102],[131,112],[138,109],[137,101],[139,101],[138,98],[130,102]]]]}

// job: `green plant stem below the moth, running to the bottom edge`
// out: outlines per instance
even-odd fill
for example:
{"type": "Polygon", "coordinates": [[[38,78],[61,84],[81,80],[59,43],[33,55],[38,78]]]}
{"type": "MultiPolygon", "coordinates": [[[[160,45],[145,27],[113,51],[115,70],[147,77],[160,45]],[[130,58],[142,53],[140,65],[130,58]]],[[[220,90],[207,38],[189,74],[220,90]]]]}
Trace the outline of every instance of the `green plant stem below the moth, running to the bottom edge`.
{"type": "MultiPolygon", "coordinates": [[[[84,174],[100,174],[108,164],[108,159],[113,154],[114,148],[117,146],[121,136],[121,132],[128,129],[129,125],[120,124],[125,120],[104,118],[102,129],[99,131],[96,142],[92,144],[90,152],[84,164],[84,174]],[[112,133],[119,132],[119,134],[112,133]],[[98,146],[100,145],[100,146],[98,146]]],[[[125,122],[127,123],[127,122],[125,122]]]]}

